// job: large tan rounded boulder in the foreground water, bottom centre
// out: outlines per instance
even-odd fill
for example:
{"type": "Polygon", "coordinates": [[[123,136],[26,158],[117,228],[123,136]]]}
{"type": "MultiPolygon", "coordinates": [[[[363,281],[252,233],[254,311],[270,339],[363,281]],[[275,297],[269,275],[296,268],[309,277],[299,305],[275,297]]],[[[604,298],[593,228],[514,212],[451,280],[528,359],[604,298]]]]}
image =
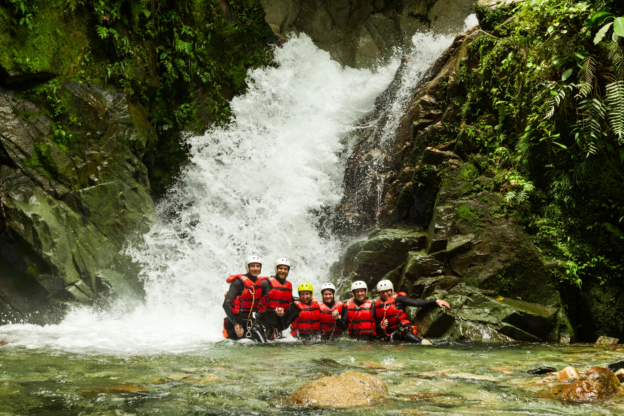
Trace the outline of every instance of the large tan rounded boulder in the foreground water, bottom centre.
{"type": "Polygon", "coordinates": [[[289,400],[298,405],[344,409],[365,406],[386,397],[388,389],[379,377],[347,372],[304,384],[290,395],[289,400]]]}

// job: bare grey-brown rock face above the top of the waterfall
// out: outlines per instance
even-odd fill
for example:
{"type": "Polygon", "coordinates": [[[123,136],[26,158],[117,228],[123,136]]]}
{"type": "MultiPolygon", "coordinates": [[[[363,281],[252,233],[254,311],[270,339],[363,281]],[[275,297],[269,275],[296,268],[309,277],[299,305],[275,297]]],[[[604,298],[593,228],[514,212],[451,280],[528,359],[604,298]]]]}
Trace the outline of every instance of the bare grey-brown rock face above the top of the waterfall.
{"type": "Polygon", "coordinates": [[[265,21],[286,39],[305,32],[343,65],[370,67],[392,57],[393,47],[411,44],[417,31],[459,31],[471,0],[261,0],[265,21]]]}

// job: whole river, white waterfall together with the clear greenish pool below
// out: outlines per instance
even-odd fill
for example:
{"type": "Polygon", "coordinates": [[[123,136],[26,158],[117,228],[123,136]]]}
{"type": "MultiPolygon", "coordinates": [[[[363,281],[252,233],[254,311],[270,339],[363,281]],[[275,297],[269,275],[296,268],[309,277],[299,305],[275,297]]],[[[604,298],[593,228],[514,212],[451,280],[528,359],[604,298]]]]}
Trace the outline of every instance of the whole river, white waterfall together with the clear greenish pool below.
{"type": "MultiPolygon", "coordinates": [[[[414,36],[397,100],[407,102],[453,37],[414,36]]],[[[235,119],[186,137],[190,163],[157,206],[162,221],[126,249],[142,266],[145,296],[75,307],[57,325],[0,327],[0,414],[622,414],[621,401],[562,404],[536,384],[544,377],[522,371],[538,360],[588,369],[622,359],[613,348],[223,340],[225,277],[243,270],[243,257],[265,258],[262,275],[287,257],[293,284],[316,287],[338,260],[331,212],[354,126],[399,56],[374,71],[342,68],[302,34],[276,49],[275,67],[250,71],[248,91],[231,103],[235,119]],[[309,380],[354,369],[378,374],[391,398],[348,411],[285,402],[309,380]]],[[[404,102],[388,105],[399,116],[404,102]]]]}

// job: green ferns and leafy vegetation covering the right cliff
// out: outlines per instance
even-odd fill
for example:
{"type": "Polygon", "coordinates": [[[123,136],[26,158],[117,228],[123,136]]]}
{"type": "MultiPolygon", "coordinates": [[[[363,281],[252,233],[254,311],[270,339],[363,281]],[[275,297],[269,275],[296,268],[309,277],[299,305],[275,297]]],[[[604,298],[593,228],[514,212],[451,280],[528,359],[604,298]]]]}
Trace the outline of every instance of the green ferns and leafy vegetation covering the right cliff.
{"type": "Polygon", "coordinates": [[[486,190],[505,196],[500,214],[519,219],[552,266],[580,337],[619,336],[624,7],[533,0],[477,11],[487,35],[436,92],[446,102],[436,143],[456,138],[462,157],[487,155],[475,159],[493,178],[486,190]]]}

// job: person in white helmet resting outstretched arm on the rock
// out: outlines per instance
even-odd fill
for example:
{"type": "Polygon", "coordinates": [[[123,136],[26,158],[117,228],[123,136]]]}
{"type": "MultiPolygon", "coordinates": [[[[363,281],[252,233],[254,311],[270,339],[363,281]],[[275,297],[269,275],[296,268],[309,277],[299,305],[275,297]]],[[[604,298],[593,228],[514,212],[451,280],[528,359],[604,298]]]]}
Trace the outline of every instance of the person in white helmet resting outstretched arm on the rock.
{"type": "Polygon", "coordinates": [[[451,305],[441,299],[411,299],[403,292],[395,294],[394,285],[390,280],[381,280],[377,284],[377,290],[379,299],[373,305],[373,316],[376,320],[377,335],[383,337],[386,341],[401,340],[416,344],[423,342],[422,339],[416,336],[417,328],[409,320],[405,312],[406,306],[430,307],[436,305],[437,307],[451,307],[451,305]]]}

